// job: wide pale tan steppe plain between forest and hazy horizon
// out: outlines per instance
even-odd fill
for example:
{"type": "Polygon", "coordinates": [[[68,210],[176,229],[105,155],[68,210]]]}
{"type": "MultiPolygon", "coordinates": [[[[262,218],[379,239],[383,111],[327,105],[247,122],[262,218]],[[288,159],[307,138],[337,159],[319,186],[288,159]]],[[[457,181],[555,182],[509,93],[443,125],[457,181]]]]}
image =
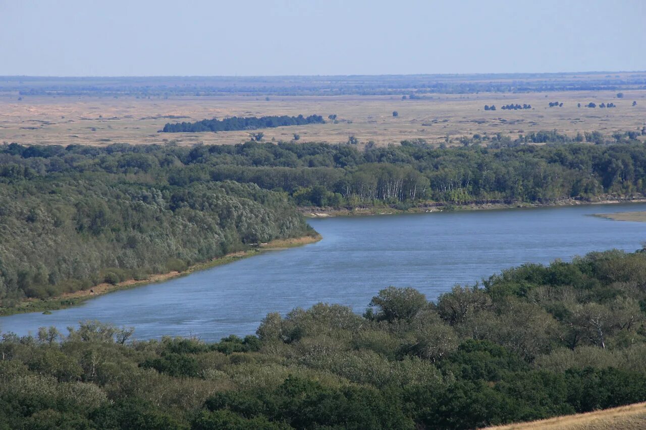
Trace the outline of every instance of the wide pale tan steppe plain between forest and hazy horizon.
{"type": "MultiPolygon", "coordinates": [[[[362,143],[398,143],[404,139],[453,143],[475,133],[502,133],[512,137],[539,130],[576,135],[598,130],[610,135],[616,131],[641,130],[646,125],[646,90],[428,94],[421,99],[401,96],[174,96],[151,99],[134,96],[24,96],[0,95],[0,142],[22,144],[72,143],[110,145],[111,143],[194,143],[233,144],[249,138],[245,131],[203,133],[158,133],[167,122],[197,121],[227,116],[319,114],[327,119],[337,114],[337,123],[299,127],[266,128],[264,140],[340,143],[355,136],[362,143]],[[548,107],[559,101],[563,107],[548,107]],[[616,108],[585,108],[590,101],[615,103],[616,108]],[[637,101],[632,106],[632,101],[637,101]],[[510,103],[532,105],[530,110],[502,110],[510,103]],[[578,108],[577,104],[582,107],[578,108]],[[497,110],[485,111],[485,105],[497,110]],[[399,116],[394,118],[396,110],[399,116]]],[[[404,93],[406,94],[406,93],[404,93]]]]}

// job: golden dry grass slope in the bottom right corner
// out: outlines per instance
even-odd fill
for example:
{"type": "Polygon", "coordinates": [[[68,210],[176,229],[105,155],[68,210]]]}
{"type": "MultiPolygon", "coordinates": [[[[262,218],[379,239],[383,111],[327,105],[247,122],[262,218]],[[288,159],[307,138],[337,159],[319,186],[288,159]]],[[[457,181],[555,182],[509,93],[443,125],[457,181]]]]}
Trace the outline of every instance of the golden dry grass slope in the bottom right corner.
{"type": "Polygon", "coordinates": [[[643,430],[646,429],[646,403],[488,428],[495,430],[643,430]]]}

